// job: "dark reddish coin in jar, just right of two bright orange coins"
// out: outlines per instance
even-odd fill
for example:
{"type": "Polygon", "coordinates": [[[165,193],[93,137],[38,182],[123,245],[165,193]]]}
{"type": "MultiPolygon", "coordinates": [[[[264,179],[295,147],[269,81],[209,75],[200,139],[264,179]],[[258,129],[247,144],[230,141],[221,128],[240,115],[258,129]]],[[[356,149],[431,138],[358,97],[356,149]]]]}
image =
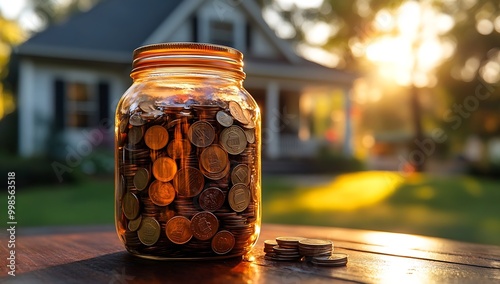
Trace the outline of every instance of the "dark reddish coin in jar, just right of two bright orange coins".
{"type": "Polygon", "coordinates": [[[173,183],[178,196],[194,197],[203,189],[205,179],[198,169],[187,167],[177,172],[173,183]]]}

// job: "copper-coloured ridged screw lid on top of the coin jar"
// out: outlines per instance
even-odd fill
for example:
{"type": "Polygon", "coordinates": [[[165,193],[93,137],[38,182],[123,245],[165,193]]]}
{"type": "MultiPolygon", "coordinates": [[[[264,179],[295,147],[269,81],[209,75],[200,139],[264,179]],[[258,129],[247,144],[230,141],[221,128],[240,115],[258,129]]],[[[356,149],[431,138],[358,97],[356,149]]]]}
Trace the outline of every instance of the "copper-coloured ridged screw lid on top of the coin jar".
{"type": "Polygon", "coordinates": [[[209,43],[171,42],[134,50],[132,73],[151,67],[213,67],[243,73],[243,54],[237,49],[209,43]]]}

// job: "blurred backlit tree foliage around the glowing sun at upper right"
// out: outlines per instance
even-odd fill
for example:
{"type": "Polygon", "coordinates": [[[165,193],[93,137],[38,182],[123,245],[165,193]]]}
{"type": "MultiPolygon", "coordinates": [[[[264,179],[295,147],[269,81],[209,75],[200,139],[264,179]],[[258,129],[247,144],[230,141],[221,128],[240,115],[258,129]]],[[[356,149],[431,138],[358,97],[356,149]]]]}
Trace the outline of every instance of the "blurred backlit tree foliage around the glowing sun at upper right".
{"type": "MultiPolygon", "coordinates": [[[[272,19],[274,13],[283,22],[289,23],[292,32],[286,35],[295,42],[299,51],[310,59],[319,55],[320,62],[329,61],[332,67],[361,72],[368,80],[377,77],[379,79],[373,81],[383,92],[391,92],[393,87],[387,84],[380,86],[382,80],[373,73],[374,70],[383,73],[387,69],[384,71],[381,67],[389,65],[382,63],[404,61],[404,58],[397,59],[402,49],[409,50],[408,56],[422,55],[421,63],[416,64],[417,59],[413,59],[413,64],[406,66],[410,76],[400,76],[405,75],[401,71],[386,72],[389,74],[386,79],[396,78],[396,83],[412,86],[409,93],[413,94],[411,108],[414,110],[416,133],[412,142],[426,139],[426,134],[432,133],[432,128],[438,126],[447,136],[453,137],[450,141],[470,133],[485,137],[500,134],[499,88],[495,85],[500,80],[500,14],[495,1],[311,0],[300,4],[296,1],[294,5],[283,3],[279,0],[265,1],[264,15],[268,13],[271,16],[267,18],[272,19]],[[398,45],[394,38],[402,31],[399,22],[395,21],[399,21],[397,15],[400,10],[408,6],[418,6],[425,13],[420,13],[418,26],[402,34],[414,36],[411,44],[398,45]],[[425,72],[414,70],[418,65],[425,65],[422,63],[429,63],[437,54],[432,48],[433,42],[423,41],[432,29],[438,32],[433,42],[440,42],[441,58],[425,72]],[[380,58],[380,55],[385,57],[380,58]],[[383,60],[386,61],[381,62],[383,60]],[[488,103],[482,103],[477,97],[478,88],[482,88],[483,93],[487,91],[481,98],[488,99],[488,103]],[[439,97],[444,94],[448,104],[436,107],[428,103],[421,114],[418,108],[418,98],[422,95],[418,92],[421,91],[430,93],[426,95],[434,101],[444,101],[439,97]],[[469,105],[464,106],[464,103],[469,105]],[[468,108],[462,110],[465,107],[468,108]],[[427,123],[429,120],[432,122],[427,123]],[[421,121],[426,122],[424,126],[421,121]],[[426,125],[432,125],[432,128],[425,128],[426,125]]],[[[411,18],[417,15],[415,11],[413,9],[401,17],[401,21],[410,23],[411,18]]],[[[286,27],[286,24],[280,22],[279,27],[283,29],[283,26],[286,27]]],[[[277,33],[280,35],[280,32],[277,33]]],[[[399,110],[401,107],[398,104],[393,108],[399,110]]],[[[391,112],[379,112],[379,115],[390,119],[391,112]]],[[[416,143],[411,144],[417,146],[416,143]]]]}

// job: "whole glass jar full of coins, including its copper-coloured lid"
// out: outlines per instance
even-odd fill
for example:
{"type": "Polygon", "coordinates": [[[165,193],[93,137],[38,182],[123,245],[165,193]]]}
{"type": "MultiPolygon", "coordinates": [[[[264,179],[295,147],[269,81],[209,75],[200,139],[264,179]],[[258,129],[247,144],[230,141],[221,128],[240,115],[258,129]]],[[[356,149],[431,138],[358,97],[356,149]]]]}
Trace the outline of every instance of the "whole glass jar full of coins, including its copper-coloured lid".
{"type": "Polygon", "coordinates": [[[229,47],[134,51],[115,120],[115,224],[132,254],[242,256],[261,226],[261,115],[229,47]]]}

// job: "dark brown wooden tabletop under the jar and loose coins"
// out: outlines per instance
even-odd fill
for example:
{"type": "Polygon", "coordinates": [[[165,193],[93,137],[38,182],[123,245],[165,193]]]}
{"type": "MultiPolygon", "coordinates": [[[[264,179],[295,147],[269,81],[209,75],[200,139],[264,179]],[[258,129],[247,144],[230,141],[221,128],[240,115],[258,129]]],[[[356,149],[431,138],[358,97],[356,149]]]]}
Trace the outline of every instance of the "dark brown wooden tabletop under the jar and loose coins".
{"type": "Polygon", "coordinates": [[[127,253],[111,226],[19,229],[16,276],[8,276],[1,237],[0,283],[499,283],[500,247],[414,235],[264,224],[253,260],[152,261],[127,253]],[[331,239],[347,266],[264,259],[277,236],[331,239]]]}

